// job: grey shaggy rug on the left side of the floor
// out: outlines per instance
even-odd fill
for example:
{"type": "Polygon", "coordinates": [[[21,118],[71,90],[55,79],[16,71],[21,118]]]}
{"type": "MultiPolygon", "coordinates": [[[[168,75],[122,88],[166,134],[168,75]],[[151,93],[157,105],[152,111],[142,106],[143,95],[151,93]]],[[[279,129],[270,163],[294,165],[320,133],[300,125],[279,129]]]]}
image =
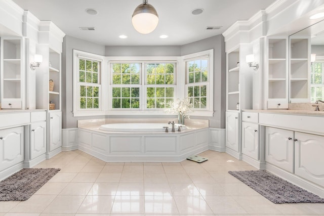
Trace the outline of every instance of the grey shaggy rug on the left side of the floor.
{"type": "Polygon", "coordinates": [[[33,195],[60,169],[23,168],[0,182],[0,201],[24,201],[33,195]]]}

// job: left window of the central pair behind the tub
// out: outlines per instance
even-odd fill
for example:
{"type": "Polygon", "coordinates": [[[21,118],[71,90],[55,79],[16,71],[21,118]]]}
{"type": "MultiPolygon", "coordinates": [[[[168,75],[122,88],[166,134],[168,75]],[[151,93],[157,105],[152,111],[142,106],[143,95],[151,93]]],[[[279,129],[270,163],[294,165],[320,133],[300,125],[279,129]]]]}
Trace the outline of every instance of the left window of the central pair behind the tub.
{"type": "Polygon", "coordinates": [[[140,108],[140,63],[110,64],[112,109],[140,108]]]}

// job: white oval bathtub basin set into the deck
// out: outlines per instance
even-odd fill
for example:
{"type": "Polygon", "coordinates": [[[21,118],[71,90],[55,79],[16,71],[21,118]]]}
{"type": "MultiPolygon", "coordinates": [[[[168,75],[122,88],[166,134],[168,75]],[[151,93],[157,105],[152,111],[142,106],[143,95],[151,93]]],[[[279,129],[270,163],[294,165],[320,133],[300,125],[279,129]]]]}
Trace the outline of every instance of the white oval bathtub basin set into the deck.
{"type": "MultiPolygon", "coordinates": [[[[178,127],[181,126],[181,131],[184,131],[187,127],[181,124],[175,124],[175,131],[178,131],[178,127]]],[[[171,132],[172,124],[168,123],[111,123],[103,124],[99,129],[103,131],[114,131],[114,132],[165,132],[166,128],[169,127],[171,132]]]]}

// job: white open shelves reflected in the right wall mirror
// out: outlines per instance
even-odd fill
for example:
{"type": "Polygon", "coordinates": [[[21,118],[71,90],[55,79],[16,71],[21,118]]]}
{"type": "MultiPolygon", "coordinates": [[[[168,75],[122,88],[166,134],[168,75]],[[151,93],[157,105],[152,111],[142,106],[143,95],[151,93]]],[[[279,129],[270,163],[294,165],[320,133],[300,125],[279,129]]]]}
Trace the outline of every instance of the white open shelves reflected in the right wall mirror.
{"type": "Polygon", "coordinates": [[[310,102],[310,40],[290,37],[290,102],[310,102]]]}

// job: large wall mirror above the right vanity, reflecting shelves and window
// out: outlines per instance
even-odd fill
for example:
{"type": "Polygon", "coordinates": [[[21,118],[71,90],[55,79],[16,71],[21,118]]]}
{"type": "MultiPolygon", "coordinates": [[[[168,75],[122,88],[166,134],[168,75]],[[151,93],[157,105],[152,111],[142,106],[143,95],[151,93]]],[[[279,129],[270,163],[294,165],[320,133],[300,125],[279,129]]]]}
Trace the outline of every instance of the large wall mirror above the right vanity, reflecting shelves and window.
{"type": "Polygon", "coordinates": [[[324,100],[324,20],[290,35],[290,46],[289,101],[324,100]]]}

